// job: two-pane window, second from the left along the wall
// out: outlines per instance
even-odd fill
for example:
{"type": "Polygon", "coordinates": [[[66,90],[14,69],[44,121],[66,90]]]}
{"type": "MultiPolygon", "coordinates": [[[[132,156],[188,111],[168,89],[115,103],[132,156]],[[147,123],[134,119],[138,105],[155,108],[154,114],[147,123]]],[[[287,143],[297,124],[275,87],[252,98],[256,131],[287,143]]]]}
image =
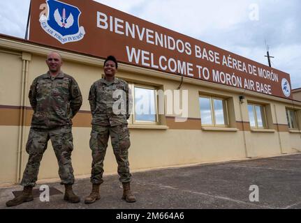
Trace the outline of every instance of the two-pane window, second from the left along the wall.
{"type": "Polygon", "coordinates": [[[228,127],[227,101],[221,98],[200,97],[200,118],[202,125],[228,127]]]}

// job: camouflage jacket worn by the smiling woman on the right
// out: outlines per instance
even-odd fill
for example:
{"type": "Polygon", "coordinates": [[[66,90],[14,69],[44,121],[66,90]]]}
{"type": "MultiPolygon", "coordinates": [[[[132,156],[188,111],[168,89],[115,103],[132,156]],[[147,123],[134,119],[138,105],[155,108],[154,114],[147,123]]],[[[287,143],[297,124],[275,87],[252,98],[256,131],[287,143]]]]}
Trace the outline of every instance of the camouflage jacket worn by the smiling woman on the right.
{"type": "Polygon", "coordinates": [[[99,79],[91,86],[89,102],[92,125],[117,126],[127,124],[127,119],[131,113],[131,93],[129,84],[124,80],[117,77],[115,77],[114,82],[99,79]],[[120,105],[119,112],[115,112],[113,105],[120,105]]]}

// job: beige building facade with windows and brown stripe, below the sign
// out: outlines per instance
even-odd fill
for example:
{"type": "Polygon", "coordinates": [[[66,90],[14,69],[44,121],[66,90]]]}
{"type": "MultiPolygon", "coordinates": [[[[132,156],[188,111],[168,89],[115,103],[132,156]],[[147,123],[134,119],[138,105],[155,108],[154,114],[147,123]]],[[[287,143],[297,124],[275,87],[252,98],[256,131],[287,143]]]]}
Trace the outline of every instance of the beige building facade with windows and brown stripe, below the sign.
{"type": "MultiPolygon", "coordinates": [[[[47,71],[45,57],[53,50],[62,55],[62,70],[77,80],[84,100],[73,119],[75,176],[91,172],[88,94],[91,84],[103,74],[103,59],[0,36],[0,185],[19,183],[22,178],[33,114],[29,87],[35,77],[47,71]]],[[[129,82],[133,92],[129,120],[132,171],[301,151],[301,102],[124,63],[119,65],[117,77],[129,82]],[[188,106],[186,118],[170,109],[170,103],[176,104],[177,93],[179,98],[186,96],[187,100],[179,100],[179,109],[188,106]],[[144,100],[141,95],[148,95],[148,110],[152,111],[148,116],[135,107],[144,100]]],[[[117,174],[110,144],[104,169],[105,174],[117,174]]],[[[38,179],[56,178],[58,165],[49,142],[38,179]]]]}

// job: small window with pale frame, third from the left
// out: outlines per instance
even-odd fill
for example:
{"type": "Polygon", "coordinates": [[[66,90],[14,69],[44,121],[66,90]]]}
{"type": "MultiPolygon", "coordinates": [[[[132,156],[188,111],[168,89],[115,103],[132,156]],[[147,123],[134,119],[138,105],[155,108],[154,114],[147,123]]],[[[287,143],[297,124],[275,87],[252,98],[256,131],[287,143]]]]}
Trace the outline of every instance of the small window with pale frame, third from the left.
{"type": "Polygon", "coordinates": [[[263,105],[248,104],[248,111],[251,128],[267,128],[263,105]]]}

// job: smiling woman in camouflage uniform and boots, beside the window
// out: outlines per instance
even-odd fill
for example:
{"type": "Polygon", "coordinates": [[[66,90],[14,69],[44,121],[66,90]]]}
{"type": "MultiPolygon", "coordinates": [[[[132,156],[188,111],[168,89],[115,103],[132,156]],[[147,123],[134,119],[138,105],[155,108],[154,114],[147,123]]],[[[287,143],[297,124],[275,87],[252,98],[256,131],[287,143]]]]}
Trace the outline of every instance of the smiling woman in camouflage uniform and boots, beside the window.
{"type": "Polygon", "coordinates": [[[89,92],[92,113],[90,148],[92,151],[91,194],[85,203],[94,203],[100,199],[99,187],[103,183],[103,160],[111,137],[112,148],[118,164],[119,180],[124,187],[122,199],[135,202],[131,193],[131,174],[129,170],[129,129],[127,119],[130,116],[131,93],[129,84],[115,77],[118,63],[114,56],[108,56],[104,63],[105,78],[95,82],[89,92]],[[121,97],[120,97],[121,96],[121,97]],[[117,106],[116,106],[117,105],[117,106]]]}

